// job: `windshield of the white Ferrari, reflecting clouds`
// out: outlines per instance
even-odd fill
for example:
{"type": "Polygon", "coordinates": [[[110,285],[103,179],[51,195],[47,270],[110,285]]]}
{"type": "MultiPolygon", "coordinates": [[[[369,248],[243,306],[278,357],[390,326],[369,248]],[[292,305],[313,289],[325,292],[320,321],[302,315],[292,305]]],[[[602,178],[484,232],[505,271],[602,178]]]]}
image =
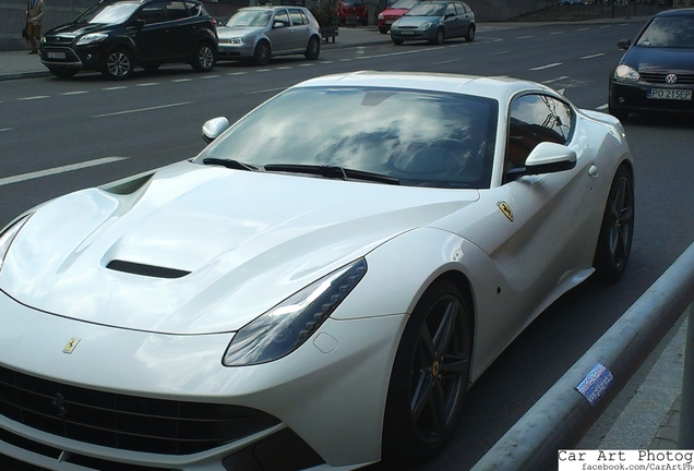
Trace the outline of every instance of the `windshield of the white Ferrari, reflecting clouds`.
{"type": "Polygon", "coordinates": [[[292,88],[195,159],[332,166],[404,185],[489,188],[498,101],[407,89],[292,88]]]}

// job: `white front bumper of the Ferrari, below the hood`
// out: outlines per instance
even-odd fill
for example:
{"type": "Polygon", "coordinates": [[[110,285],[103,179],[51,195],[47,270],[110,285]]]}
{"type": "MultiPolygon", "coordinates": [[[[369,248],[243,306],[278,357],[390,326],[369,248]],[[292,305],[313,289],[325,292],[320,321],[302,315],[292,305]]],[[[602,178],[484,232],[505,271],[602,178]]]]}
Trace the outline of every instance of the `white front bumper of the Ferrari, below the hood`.
{"type": "Polygon", "coordinates": [[[384,398],[405,322],[404,315],[331,318],[284,359],[225,367],[220,360],[232,334],[176,336],[88,324],[35,311],[0,291],[0,367],[40,385],[44,402],[55,406],[52,422],[61,425],[22,423],[11,412],[13,386],[0,381],[0,452],[64,471],[92,469],[95,460],[119,470],[225,471],[258,455],[249,450],[292,443],[324,462],[312,469],[361,467],[380,459],[384,398]],[[76,348],[64,353],[75,338],[76,348]],[[132,449],[63,432],[82,420],[71,415],[75,388],[101,398],[234,406],[276,420],[210,449],[132,449]]]}

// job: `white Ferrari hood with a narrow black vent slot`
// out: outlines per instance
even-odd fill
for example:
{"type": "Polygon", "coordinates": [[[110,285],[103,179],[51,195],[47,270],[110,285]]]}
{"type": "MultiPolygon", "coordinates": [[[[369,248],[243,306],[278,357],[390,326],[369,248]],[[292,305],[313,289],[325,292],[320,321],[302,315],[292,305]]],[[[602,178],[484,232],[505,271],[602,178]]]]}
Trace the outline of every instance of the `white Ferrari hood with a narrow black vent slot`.
{"type": "Polygon", "coordinates": [[[232,331],[477,198],[475,190],[181,162],[39,207],[12,243],[0,289],[34,309],[100,325],[232,331]]]}

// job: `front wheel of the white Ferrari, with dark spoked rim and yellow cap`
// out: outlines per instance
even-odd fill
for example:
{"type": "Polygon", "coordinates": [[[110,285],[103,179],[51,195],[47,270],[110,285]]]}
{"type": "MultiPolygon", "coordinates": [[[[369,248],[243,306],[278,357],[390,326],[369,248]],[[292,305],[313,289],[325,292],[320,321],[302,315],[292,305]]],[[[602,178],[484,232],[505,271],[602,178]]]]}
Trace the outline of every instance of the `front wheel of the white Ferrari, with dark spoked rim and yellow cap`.
{"type": "Polygon", "coordinates": [[[467,391],[469,323],[466,298],[450,280],[432,285],[417,303],[388,384],[385,459],[424,458],[451,434],[467,391]]]}

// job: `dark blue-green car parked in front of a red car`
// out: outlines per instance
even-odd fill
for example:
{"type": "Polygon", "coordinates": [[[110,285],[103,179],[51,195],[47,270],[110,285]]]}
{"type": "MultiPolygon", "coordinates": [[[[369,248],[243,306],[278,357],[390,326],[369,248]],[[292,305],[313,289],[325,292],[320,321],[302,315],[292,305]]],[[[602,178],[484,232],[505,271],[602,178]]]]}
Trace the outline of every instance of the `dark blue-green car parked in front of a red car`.
{"type": "Polygon", "coordinates": [[[423,1],[412,7],[391,25],[391,39],[396,46],[406,40],[443,44],[445,39],[465,37],[475,40],[475,13],[459,1],[423,1]]]}

